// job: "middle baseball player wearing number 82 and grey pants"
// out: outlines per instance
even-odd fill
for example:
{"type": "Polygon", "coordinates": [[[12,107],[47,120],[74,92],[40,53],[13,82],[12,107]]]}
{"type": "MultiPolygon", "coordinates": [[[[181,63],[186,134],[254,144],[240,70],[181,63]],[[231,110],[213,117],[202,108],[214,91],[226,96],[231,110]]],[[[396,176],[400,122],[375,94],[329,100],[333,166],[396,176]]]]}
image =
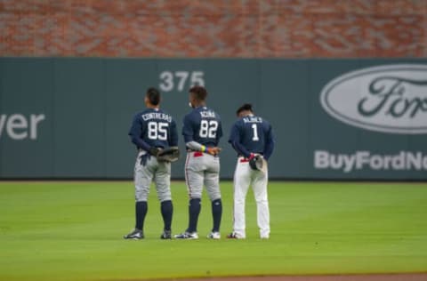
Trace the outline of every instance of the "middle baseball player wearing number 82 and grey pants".
{"type": "Polygon", "coordinates": [[[206,107],[207,92],[202,86],[189,89],[189,105],[193,110],[184,117],[182,135],[187,147],[185,181],[189,191],[189,227],[175,235],[180,239],[197,239],[197,220],[201,209],[202,189],[212,203],[214,227],[207,236],[220,239],[222,201],[220,191],[220,157],[218,142],[222,137],[220,116],[206,107]]]}

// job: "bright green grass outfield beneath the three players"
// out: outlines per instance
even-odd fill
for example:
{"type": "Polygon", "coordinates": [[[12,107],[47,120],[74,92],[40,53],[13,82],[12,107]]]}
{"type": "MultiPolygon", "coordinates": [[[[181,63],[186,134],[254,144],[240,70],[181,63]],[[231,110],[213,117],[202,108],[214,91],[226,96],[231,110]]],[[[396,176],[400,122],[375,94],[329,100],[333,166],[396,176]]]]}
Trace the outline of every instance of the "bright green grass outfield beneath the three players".
{"type": "MultiPolygon", "coordinates": [[[[270,182],[270,240],[246,200],[246,240],[227,240],[232,184],[222,181],[222,239],[159,239],[155,189],[146,239],[133,229],[133,183],[0,181],[0,280],[99,280],[427,271],[427,183],[270,182]]],[[[187,225],[187,193],[173,182],[173,233],[187,225]]]]}

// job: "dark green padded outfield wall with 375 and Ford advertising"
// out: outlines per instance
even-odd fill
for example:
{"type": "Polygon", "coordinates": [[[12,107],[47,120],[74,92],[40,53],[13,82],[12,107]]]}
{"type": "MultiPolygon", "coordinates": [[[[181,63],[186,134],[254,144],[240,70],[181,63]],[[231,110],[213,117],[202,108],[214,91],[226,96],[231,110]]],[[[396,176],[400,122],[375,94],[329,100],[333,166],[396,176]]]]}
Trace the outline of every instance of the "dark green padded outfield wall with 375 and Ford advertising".
{"type": "Polygon", "coordinates": [[[223,178],[236,108],[252,102],[276,132],[270,178],[427,180],[425,59],[2,58],[0,77],[2,179],[131,178],[127,131],[145,89],[161,89],[181,131],[190,84],[205,84],[222,116],[223,178]]]}

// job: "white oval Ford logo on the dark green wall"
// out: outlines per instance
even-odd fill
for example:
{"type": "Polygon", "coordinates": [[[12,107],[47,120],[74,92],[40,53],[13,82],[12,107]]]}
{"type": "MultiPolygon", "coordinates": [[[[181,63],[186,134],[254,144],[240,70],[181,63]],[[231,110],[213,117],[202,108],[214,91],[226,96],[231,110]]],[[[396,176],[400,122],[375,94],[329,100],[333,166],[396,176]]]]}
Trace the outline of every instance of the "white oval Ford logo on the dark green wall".
{"type": "Polygon", "coordinates": [[[320,102],[330,116],[363,129],[427,133],[427,65],[351,71],[326,84],[320,102]]]}

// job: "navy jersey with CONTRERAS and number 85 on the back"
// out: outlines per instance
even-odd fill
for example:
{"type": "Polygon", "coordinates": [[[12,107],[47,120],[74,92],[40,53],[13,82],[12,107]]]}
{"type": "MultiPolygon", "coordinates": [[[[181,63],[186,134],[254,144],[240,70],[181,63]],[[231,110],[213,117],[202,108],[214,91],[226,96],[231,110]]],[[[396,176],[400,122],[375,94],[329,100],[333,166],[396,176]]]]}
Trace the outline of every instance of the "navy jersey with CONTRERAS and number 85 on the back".
{"type": "Polygon", "coordinates": [[[133,117],[129,130],[137,149],[168,148],[178,145],[178,133],[172,116],[158,108],[148,108],[133,117]]]}

